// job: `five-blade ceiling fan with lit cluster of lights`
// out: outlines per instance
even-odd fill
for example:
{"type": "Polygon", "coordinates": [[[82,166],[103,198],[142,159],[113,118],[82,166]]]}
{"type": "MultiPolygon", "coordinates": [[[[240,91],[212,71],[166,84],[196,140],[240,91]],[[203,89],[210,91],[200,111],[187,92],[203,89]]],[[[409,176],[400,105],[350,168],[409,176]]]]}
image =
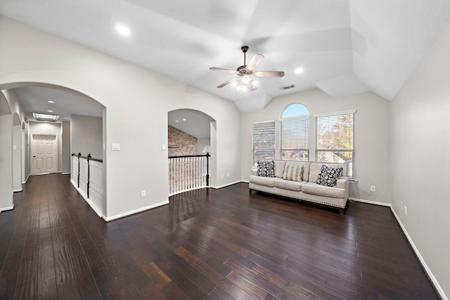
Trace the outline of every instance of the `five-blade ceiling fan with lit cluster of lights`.
{"type": "Polygon", "coordinates": [[[228,72],[228,73],[233,73],[233,74],[237,74],[238,77],[229,79],[227,81],[225,81],[223,84],[219,84],[219,86],[217,86],[218,88],[223,88],[224,86],[231,84],[233,85],[236,89],[238,90],[242,90],[242,91],[255,91],[255,89],[257,89],[257,81],[255,81],[253,79],[253,77],[283,77],[284,76],[284,72],[278,72],[278,71],[257,71],[257,72],[253,72],[253,70],[255,69],[255,67],[261,63],[262,59],[264,58],[264,56],[262,54],[256,53],[252,59],[250,60],[250,62],[248,62],[248,65],[245,64],[245,54],[248,51],[248,46],[242,46],[240,48],[240,50],[243,51],[244,53],[244,65],[241,65],[240,67],[238,67],[238,69],[235,70],[229,70],[229,69],[224,69],[221,67],[210,67],[210,70],[214,70],[214,71],[221,71],[221,72],[228,72]]]}

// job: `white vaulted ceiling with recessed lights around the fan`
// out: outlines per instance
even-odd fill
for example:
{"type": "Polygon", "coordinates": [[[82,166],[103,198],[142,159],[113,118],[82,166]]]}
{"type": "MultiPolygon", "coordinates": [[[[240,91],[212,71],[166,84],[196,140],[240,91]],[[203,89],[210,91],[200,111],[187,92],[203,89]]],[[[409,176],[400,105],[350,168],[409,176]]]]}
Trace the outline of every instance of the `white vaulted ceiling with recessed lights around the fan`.
{"type": "Polygon", "coordinates": [[[450,1],[1,0],[0,14],[229,99],[245,112],[315,87],[332,97],[373,91],[392,100],[449,23],[450,1]],[[117,24],[131,34],[117,34],[117,24]],[[265,56],[255,70],[285,76],[260,77],[256,91],[218,89],[236,74],[209,68],[236,70],[243,45],[248,60],[265,56]]]}

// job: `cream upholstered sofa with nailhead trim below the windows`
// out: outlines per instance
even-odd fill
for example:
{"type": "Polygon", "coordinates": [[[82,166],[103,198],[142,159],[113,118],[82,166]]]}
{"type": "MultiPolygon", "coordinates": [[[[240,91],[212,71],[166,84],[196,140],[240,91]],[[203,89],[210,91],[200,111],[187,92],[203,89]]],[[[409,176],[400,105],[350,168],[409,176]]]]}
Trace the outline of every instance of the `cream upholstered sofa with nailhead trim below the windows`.
{"type": "MultiPolygon", "coordinates": [[[[348,164],[274,160],[274,174],[271,174],[274,177],[258,176],[258,171],[252,169],[252,175],[249,179],[250,194],[252,190],[257,190],[337,208],[340,214],[345,214],[345,207],[349,198],[348,164]],[[288,164],[290,166],[302,166],[302,176],[297,178],[297,181],[283,179],[285,167],[288,164]],[[335,181],[335,187],[317,183],[317,178],[324,164],[327,167],[342,167],[342,172],[335,181]]],[[[288,178],[288,176],[285,177],[288,178]]],[[[321,178],[323,177],[321,176],[321,178]]]]}

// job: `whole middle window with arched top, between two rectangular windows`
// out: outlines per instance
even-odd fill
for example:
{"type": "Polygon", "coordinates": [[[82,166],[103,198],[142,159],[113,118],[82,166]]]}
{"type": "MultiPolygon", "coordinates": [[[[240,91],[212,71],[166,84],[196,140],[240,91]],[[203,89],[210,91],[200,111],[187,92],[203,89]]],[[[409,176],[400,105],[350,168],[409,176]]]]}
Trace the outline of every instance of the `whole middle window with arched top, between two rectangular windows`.
{"type": "Polygon", "coordinates": [[[281,113],[281,159],[309,159],[309,111],[300,103],[281,113]]]}

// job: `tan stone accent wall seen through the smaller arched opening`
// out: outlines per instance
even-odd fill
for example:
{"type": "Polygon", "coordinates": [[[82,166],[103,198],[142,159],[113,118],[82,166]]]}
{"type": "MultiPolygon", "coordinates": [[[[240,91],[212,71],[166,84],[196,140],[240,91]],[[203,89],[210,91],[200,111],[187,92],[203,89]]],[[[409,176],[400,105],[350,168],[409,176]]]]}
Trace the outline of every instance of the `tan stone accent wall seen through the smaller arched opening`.
{"type": "Polygon", "coordinates": [[[169,125],[169,156],[197,155],[197,138],[169,125]]]}

